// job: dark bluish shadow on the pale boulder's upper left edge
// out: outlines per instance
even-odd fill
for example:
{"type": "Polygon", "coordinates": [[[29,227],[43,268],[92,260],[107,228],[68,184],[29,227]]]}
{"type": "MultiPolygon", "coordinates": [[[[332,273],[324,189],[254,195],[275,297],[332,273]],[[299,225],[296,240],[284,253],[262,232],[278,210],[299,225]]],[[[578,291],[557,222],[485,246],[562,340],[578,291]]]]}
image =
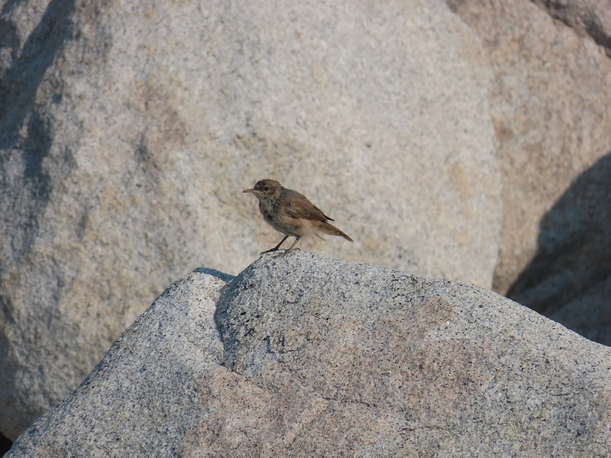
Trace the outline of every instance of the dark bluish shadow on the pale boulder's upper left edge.
{"type": "MultiPolygon", "coordinates": [[[[0,189],[9,192],[13,187],[2,211],[13,233],[25,234],[22,241],[13,242],[13,255],[23,256],[38,235],[37,217],[43,213],[51,193],[51,179],[43,161],[53,144],[53,126],[42,104],[34,102],[46,72],[73,35],[70,16],[74,0],[49,2],[21,54],[16,26],[5,19],[17,5],[18,2],[6,2],[1,11],[4,18],[0,20],[0,48],[15,59],[0,78],[0,150],[4,151],[0,154],[0,189]],[[25,137],[21,132],[24,125],[27,126],[25,137]],[[24,169],[23,176],[11,179],[8,178],[10,161],[14,158],[7,151],[12,150],[21,151],[24,169]],[[18,180],[20,186],[16,187],[14,180],[18,180]]],[[[60,97],[61,90],[61,87],[56,88],[56,97],[60,97]]],[[[69,151],[65,154],[70,160],[69,151]]]]}

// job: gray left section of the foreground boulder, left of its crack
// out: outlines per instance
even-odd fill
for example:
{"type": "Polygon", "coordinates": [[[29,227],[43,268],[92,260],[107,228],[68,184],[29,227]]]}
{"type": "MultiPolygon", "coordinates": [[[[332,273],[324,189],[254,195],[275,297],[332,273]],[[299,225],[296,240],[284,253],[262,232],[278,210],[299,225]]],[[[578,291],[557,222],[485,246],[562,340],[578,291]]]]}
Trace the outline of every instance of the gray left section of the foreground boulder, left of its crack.
{"type": "MultiPolygon", "coordinates": [[[[40,437],[51,425],[65,427],[71,431],[73,445],[38,442],[37,451],[31,452],[42,456],[119,456],[130,450],[168,454],[168,447],[186,428],[205,418],[197,390],[203,388],[201,377],[218,368],[222,359],[214,310],[219,289],[229,278],[200,269],[170,285],[115,341],[75,392],[21,436],[27,441],[40,437]]],[[[18,444],[12,453],[20,450],[18,444]]]]}

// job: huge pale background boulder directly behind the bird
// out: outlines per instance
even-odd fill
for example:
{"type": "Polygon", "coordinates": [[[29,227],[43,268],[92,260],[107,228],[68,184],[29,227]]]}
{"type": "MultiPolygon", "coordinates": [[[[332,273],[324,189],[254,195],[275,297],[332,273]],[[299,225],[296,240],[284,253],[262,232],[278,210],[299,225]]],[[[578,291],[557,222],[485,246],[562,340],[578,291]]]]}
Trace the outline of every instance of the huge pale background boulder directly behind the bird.
{"type": "Polygon", "coordinates": [[[302,247],[490,286],[489,67],[442,2],[2,2],[0,431],[15,438],[194,267],[303,192],[356,243],[302,247]]]}

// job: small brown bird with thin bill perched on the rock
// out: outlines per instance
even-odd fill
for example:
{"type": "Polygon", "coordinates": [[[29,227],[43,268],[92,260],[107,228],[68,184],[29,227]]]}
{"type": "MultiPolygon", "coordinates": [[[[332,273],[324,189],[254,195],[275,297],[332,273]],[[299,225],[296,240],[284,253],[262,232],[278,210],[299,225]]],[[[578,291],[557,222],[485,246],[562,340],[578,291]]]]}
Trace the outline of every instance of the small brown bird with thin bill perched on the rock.
{"type": "Polygon", "coordinates": [[[259,200],[259,211],[265,222],[285,235],[273,249],[262,252],[276,251],[288,237],[295,237],[295,242],[283,254],[295,249],[295,244],[304,236],[311,234],[320,237],[320,234],[338,235],[353,242],[345,233],[334,225],[327,223],[333,221],[326,216],[320,208],[313,205],[304,195],[293,189],[287,189],[275,180],[261,180],[252,189],[242,192],[252,192],[259,200]]]}

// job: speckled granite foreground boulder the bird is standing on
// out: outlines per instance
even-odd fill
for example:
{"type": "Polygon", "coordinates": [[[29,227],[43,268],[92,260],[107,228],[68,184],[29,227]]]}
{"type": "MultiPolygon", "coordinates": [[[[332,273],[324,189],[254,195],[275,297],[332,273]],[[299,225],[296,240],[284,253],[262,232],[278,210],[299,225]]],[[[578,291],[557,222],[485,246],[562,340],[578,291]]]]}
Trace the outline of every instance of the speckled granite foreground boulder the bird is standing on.
{"type": "Polygon", "coordinates": [[[609,347],[476,286],[273,256],[175,282],[8,456],[611,454],[609,347]]]}

